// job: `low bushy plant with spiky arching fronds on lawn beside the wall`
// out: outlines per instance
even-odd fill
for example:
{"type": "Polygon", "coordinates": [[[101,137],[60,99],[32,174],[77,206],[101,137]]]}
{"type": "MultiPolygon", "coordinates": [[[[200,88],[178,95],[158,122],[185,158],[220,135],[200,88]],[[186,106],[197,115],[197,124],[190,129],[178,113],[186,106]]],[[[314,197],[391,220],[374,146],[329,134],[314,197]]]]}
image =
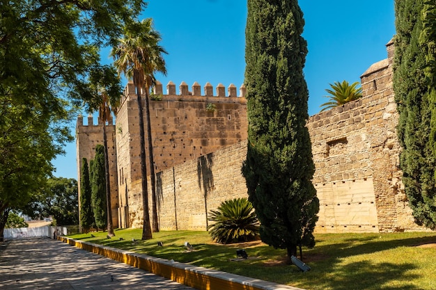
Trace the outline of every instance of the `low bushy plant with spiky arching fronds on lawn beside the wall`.
{"type": "Polygon", "coordinates": [[[221,202],[216,211],[210,211],[210,236],[218,243],[254,241],[259,237],[259,221],[253,205],[247,198],[221,202]]]}

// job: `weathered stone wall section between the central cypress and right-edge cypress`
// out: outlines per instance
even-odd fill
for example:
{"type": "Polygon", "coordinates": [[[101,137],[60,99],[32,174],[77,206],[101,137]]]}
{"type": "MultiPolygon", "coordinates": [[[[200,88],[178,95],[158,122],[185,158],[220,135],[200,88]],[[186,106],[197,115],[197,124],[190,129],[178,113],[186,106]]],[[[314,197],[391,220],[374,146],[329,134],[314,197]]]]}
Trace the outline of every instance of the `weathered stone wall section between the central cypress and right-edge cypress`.
{"type": "Polygon", "coordinates": [[[318,232],[417,228],[400,182],[393,42],[387,51],[387,59],[361,75],[361,99],[309,119],[313,184],[320,199],[318,232]]]}

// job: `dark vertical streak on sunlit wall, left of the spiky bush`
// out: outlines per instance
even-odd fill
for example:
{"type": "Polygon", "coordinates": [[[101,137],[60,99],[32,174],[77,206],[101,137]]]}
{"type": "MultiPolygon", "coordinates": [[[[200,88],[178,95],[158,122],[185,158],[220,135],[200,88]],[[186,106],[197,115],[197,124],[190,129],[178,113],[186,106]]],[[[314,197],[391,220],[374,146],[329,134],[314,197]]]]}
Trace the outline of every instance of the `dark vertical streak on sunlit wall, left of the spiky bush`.
{"type": "Polygon", "coordinates": [[[204,210],[206,216],[206,226],[208,223],[208,194],[214,188],[214,179],[212,174],[212,154],[201,156],[197,159],[197,176],[198,187],[203,188],[204,210]]]}

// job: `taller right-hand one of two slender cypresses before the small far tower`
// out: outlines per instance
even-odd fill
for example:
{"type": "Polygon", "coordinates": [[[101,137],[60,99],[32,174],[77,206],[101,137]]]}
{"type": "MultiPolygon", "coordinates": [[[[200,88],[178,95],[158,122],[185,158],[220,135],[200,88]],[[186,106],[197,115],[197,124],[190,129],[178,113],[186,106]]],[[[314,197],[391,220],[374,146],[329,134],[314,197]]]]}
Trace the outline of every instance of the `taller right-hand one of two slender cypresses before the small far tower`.
{"type": "Polygon", "coordinates": [[[92,172],[91,191],[95,225],[97,225],[98,229],[104,229],[107,225],[107,205],[103,145],[95,146],[95,157],[93,161],[92,172]]]}

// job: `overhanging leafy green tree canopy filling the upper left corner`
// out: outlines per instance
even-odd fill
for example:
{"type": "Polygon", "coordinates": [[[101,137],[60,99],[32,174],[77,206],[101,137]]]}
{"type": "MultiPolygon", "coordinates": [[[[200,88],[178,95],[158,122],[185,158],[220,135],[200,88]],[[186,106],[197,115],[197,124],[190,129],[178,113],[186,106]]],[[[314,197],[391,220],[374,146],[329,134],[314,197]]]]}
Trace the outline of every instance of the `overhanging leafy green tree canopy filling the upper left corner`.
{"type": "Polygon", "coordinates": [[[44,187],[51,160],[72,140],[63,122],[70,109],[91,102],[98,75],[110,76],[100,86],[114,84],[114,70],[100,65],[100,48],[145,6],[143,0],[0,5],[0,239],[10,209],[44,187]]]}

